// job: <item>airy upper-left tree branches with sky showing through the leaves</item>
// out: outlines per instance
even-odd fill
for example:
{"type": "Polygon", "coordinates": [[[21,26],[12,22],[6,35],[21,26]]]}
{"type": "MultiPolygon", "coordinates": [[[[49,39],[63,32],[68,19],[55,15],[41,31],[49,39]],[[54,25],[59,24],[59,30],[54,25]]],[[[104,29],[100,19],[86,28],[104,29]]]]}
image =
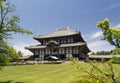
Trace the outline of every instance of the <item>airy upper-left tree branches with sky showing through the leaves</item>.
{"type": "Polygon", "coordinates": [[[9,38],[12,35],[11,32],[32,34],[19,26],[20,18],[12,14],[15,9],[15,6],[7,0],[0,0],[0,40],[9,38]]]}

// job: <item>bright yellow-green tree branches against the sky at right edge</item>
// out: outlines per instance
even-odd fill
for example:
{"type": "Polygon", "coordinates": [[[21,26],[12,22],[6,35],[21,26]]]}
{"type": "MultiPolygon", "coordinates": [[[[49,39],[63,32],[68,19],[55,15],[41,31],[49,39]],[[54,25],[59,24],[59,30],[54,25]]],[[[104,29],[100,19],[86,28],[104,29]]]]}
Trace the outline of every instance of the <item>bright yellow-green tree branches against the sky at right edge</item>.
{"type": "Polygon", "coordinates": [[[114,45],[116,48],[120,48],[119,28],[110,27],[108,18],[105,18],[103,21],[97,22],[97,27],[99,27],[103,32],[102,40],[106,40],[111,45],[114,45]]]}

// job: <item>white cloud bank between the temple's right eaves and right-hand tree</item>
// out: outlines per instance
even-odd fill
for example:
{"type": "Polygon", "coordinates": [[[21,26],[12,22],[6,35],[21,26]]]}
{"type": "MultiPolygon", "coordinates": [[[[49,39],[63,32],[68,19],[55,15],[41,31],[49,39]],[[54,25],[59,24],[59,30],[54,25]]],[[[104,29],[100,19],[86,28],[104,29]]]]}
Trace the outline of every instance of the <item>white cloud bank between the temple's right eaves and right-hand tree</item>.
{"type": "Polygon", "coordinates": [[[87,35],[87,40],[91,41],[88,43],[88,47],[91,51],[97,52],[97,51],[110,51],[114,49],[114,46],[110,45],[107,41],[102,41],[100,38],[96,40],[96,38],[102,36],[102,31],[97,31],[94,33],[91,33],[87,35]]]}

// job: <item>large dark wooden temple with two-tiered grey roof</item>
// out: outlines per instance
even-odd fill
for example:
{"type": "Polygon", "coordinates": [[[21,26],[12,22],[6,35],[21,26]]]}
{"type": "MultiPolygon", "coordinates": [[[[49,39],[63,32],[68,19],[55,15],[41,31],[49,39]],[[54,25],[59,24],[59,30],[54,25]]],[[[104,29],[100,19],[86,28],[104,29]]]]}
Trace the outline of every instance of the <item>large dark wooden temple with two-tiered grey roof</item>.
{"type": "Polygon", "coordinates": [[[34,60],[47,60],[50,56],[55,56],[59,60],[69,60],[71,56],[75,59],[85,59],[90,52],[81,33],[69,27],[33,38],[40,44],[25,48],[33,53],[34,60]]]}

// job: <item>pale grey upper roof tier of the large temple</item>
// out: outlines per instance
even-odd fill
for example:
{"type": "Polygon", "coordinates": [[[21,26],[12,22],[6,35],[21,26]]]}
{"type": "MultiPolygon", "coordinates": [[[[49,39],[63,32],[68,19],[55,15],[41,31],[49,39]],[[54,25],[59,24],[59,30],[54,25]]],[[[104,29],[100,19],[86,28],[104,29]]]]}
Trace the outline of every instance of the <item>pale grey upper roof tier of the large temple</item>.
{"type": "Polygon", "coordinates": [[[73,31],[69,27],[66,29],[56,29],[55,31],[44,34],[44,35],[39,35],[37,37],[34,37],[35,39],[41,39],[41,38],[53,38],[53,37],[62,37],[62,36],[70,36],[70,35],[75,35],[79,34],[80,32],[78,31],[73,31]]]}

